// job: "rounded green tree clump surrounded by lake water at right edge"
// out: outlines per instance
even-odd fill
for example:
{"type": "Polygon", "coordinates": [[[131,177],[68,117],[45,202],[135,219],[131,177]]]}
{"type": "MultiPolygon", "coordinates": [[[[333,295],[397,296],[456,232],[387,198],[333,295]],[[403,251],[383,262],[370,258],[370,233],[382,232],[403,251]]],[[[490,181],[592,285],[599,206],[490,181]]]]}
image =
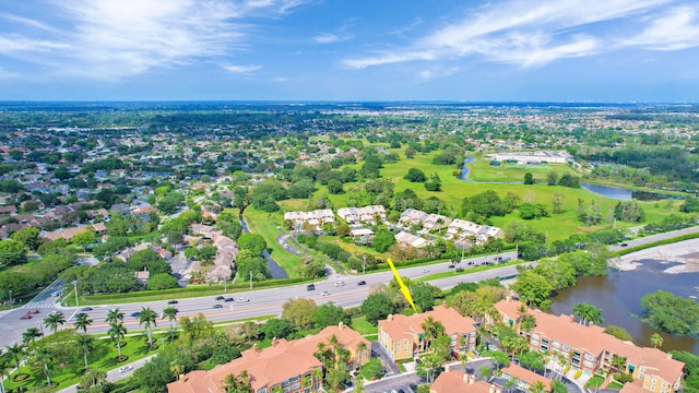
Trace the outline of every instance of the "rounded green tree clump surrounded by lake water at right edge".
{"type": "Polygon", "coordinates": [[[657,290],[641,298],[641,315],[651,326],[670,334],[699,334],[699,305],[671,293],[657,290]]]}

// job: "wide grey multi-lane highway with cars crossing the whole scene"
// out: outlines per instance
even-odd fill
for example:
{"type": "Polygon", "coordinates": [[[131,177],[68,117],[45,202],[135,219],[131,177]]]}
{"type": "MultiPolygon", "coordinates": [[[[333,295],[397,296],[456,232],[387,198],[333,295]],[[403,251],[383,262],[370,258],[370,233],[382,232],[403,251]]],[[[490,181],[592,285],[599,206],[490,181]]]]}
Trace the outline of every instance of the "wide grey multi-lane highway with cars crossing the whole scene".
{"type": "MultiPolygon", "coordinates": [[[[699,227],[686,228],[672,233],[653,235],[641,239],[629,240],[627,241],[627,245],[628,247],[633,247],[697,231],[699,231],[699,227]]],[[[619,247],[611,248],[618,249],[619,247]]],[[[506,260],[514,259],[514,252],[501,253],[499,254],[499,257],[506,260]]],[[[457,267],[465,269],[470,267],[469,263],[481,264],[484,261],[493,260],[493,255],[467,259],[463,260],[461,263],[458,263],[457,267]]],[[[401,275],[411,278],[417,278],[434,273],[454,271],[453,269],[449,269],[448,265],[449,263],[445,262],[431,265],[402,269],[401,275]]],[[[454,276],[431,281],[430,284],[442,289],[449,289],[460,282],[478,282],[486,278],[508,276],[512,274],[517,274],[517,266],[502,266],[471,274],[454,274],[454,276]]],[[[346,279],[344,281],[346,285],[344,286],[335,286],[334,281],[325,279],[317,282],[315,290],[307,290],[306,285],[295,285],[284,288],[261,289],[225,295],[233,296],[235,298],[245,297],[250,300],[249,302],[217,301],[213,296],[189,299],[174,298],[173,300],[178,300],[178,303],[174,305],[179,310],[178,318],[185,315],[193,317],[198,313],[203,313],[211,321],[223,322],[238,319],[280,314],[282,312],[282,303],[284,303],[288,299],[297,297],[313,299],[318,305],[333,301],[335,305],[342,306],[344,308],[356,307],[360,305],[362,301],[364,301],[364,299],[368,296],[371,286],[388,284],[391,281],[392,276],[393,275],[391,272],[370,274],[368,273],[366,275],[346,277],[346,279]],[[365,281],[367,284],[363,286],[357,285],[357,283],[360,281],[365,281]],[[321,296],[323,291],[329,291],[330,294],[328,296],[321,296]],[[213,308],[214,305],[221,305],[222,308],[213,308]]],[[[66,314],[68,324],[63,327],[69,327],[74,321],[75,314],[78,312],[81,312],[81,308],[58,308],[54,303],[54,298],[50,294],[54,290],[61,290],[61,288],[62,283],[54,283],[49,288],[38,295],[29,305],[24,306],[24,308],[3,312],[3,314],[0,315],[0,347],[12,345],[13,343],[21,341],[22,332],[31,326],[39,327],[46,314],[54,310],[60,310],[66,314]],[[32,319],[21,320],[20,317],[25,314],[28,309],[38,309],[39,313],[34,314],[32,319]]],[[[105,333],[108,327],[104,322],[105,317],[107,314],[107,311],[112,308],[119,308],[119,310],[125,313],[125,325],[129,331],[143,329],[143,326],[139,325],[138,319],[131,317],[132,312],[139,311],[142,307],[151,307],[159,314],[162,313],[164,308],[168,307],[168,305],[166,301],[151,301],[121,305],[115,303],[93,307],[93,310],[84,311],[94,321],[93,324],[88,327],[88,332],[105,333]]],[[[158,326],[168,326],[168,322],[163,320],[158,320],[157,324],[158,326]]]]}

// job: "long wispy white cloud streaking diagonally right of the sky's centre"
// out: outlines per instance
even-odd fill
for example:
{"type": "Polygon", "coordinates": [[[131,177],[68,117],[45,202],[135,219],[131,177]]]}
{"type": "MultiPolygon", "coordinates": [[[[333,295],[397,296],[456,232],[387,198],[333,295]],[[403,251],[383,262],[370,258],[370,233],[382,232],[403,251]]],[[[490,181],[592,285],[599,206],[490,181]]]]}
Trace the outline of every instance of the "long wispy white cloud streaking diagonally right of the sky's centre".
{"type": "MultiPolygon", "coordinates": [[[[406,47],[346,59],[344,64],[363,69],[416,60],[451,61],[481,56],[489,61],[536,67],[608,50],[605,46],[608,38],[600,35],[600,24],[641,19],[672,1],[502,1],[471,10],[458,22],[442,25],[406,47]]],[[[694,34],[689,28],[683,33],[694,34]]]]}

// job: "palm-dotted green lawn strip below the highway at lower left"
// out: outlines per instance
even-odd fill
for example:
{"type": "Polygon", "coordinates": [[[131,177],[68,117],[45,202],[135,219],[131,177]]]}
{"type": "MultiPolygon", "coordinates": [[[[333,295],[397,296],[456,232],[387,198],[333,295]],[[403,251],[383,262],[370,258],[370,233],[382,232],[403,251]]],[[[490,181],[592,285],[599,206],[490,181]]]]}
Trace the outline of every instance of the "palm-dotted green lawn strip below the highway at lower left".
{"type": "MultiPolygon", "coordinates": [[[[162,337],[169,337],[168,335],[161,335],[162,337]]],[[[154,335],[154,342],[157,345],[161,345],[161,341],[158,335],[154,335]]],[[[128,356],[129,358],[119,364],[117,361],[118,349],[117,345],[109,340],[96,340],[95,341],[95,350],[90,353],[87,356],[87,364],[91,369],[97,369],[102,371],[114,370],[119,368],[120,365],[129,364],[131,361],[144,358],[146,356],[156,354],[159,348],[154,350],[149,350],[146,345],[146,336],[130,336],[126,337],[121,343],[121,354],[123,356],[128,356]]],[[[167,344],[165,344],[167,345],[167,344]]],[[[49,374],[51,377],[52,383],[58,383],[59,389],[68,388],[72,384],[75,384],[80,381],[82,377],[82,372],[84,369],[84,364],[82,357],[80,357],[74,365],[70,365],[67,367],[59,367],[58,365],[49,366],[49,374]]],[[[14,381],[14,374],[5,381],[5,388],[8,389],[17,389],[20,386],[25,389],[44,386],[46,385],[46,377],[42,370],[39,365],[32,365],[29,362],[28,366],[22,367],[23,374],[29,374],[29,378],[22,382],[14,381]]]]}

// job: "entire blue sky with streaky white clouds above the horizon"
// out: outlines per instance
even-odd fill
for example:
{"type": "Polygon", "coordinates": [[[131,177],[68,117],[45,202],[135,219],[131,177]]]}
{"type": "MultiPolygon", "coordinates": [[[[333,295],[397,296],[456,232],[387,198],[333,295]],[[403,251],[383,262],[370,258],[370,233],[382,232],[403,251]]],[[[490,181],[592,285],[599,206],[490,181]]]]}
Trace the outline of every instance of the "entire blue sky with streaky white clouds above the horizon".
{"type": "Polygon", "coordinates": [[[0,99],[699,102],[696,0],[0,0],[0,99]]]}

